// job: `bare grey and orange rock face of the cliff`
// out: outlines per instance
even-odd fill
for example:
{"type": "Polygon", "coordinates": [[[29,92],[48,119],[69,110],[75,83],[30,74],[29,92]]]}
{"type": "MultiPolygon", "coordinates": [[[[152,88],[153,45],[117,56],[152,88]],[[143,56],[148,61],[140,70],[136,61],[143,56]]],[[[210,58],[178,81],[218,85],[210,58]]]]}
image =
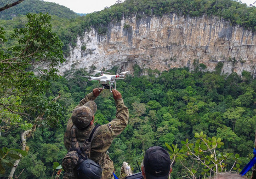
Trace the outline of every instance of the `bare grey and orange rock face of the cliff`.
{"type": "Polygon", "coordinates": [[[71,67],[131,70],[168,70],[201,63],[213,71],[223,63],[222,73],[243,70],[256,74],[255,32],[230,26],[218,17],[184,17],[175,14],[143,19],[123,19],[109,24],[106,35],[94,29],[78,37],[77,46],[60,68],[61,74],[71,67]]]}

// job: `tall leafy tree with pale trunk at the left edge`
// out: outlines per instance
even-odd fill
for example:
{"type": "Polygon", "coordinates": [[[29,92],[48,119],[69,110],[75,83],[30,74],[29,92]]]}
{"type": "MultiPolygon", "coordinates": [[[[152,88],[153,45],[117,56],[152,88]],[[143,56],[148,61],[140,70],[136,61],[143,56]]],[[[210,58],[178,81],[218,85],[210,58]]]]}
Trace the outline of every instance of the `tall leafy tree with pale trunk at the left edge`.
{"type": "MultiPolygon", "coordinates": [[[[58,77],[56,67],[64,62],[62,43],[52,32],[48,14],[27,14],[27,18],[25,28],[14,29],[12,38],[16,44],[8,51],[0,50],[1,130],[4,135],[11,126],[20,129],[22,150],[26,150],[26,139],[38,126],[53,126],[62,116],[62,107],[56,103],[60,96],[55,99],[44,96],[49,81],[58,77]]],[[[4,29],[0,28],[1,47],[5,41],[4,29]]],[[[6,148],[4,151],[8,150],[6,148]]],[[[2,150],[0,154],[3,158],[2,150]]],[[[21,155],[13,158],[19,160],[21,155]]],[[[18,160],[16,162],[19,163],[18,160]]],[[[14,166],[9,163],[8,166],[14,166]]],[[[1,163],[0,171],[4,172],[1,163]]],[[[14,171],[9,178],[13,177],[14,171]]]]}

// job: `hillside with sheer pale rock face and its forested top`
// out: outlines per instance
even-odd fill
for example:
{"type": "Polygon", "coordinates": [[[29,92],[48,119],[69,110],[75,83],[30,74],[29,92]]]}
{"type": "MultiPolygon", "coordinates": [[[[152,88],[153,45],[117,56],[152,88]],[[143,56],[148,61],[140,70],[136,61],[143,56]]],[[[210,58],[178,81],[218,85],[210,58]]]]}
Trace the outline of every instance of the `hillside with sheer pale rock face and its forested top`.
{"type": "Polygon", "coordinates": [[[84,17],[60,71],[115,66],[132,71],[137,64],[256,76],[255,10],[234,1],[125,1],[84,17]]]}

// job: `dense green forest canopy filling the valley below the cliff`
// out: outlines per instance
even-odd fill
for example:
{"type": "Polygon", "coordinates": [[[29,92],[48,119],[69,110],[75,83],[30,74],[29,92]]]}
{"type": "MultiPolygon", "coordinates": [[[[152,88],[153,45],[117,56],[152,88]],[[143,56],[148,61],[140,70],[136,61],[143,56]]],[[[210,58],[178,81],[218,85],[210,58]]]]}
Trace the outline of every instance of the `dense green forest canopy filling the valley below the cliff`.
{"type": "MultiPolygon", "coordinates": [[[[209,138],[221,139],[224,144],[217,148],[217,152],[234,153],[227,161],[227,169],[236,160],[235,154],[239,154],[235,171],[247,164],[252,157],[256,127],[256,80],[248,72],[244,71],[240,77],[236,73],[220,75],[180,68],[162,73],[147,70],[148,76],[140,76],[142,70],[136,66],[134,70],[135,76],[128,75],[117,83],[130,112],[128,127],[109,149],[117,174],[124,161],[134,172],[139,172],[136,161],[143,160],[150,146],[158,145],[168,150],[167,143],[182,148],[182,141],[188,139],[193,144],[196,142],[195,133],[201,132],[209,138]]],[[[112,69],[111,72],[117,71],[112,69]]],[[[66,75],[70,76],[69,71],[66,75]]],[[[98,87],[97,82],[88,82],[80,75],[87,73],[85,70],[72,71],[72,77],[60,77],[50,83],[44,97],[52,99],[60,93],[58,103],[64,114],[57,127],[36,130],[28,141],[29,152],[16,171],[19,174],[25,168],[26,172],[20,178],[50,178],[53,162],[61,163],[66,154],[63,138],[67,120],[79,100],[98,87]]],[[[115,103],[109,90],[105,89],[95,102],[98,105],[96,123],[105,124],[115,118],[115,103]]],[[[2,133],[1,147],[20,148],[22,129],[18,126],[18,123],[13,124],[12,130],[2,133]]],[[[181,154],[187,157],[186,151],[181,154]]],[[[190,165],[193,161],[186,157],[182,159],[181,156],[180,160],[184,165],[190,165]]],[[[195,175],[202,177],[201,172],[203,167],[197,169],[195,175]]],[[[174,163],[172,178],[184,175],[190,176],[190,172],[179,162],[174,163]]]]}

